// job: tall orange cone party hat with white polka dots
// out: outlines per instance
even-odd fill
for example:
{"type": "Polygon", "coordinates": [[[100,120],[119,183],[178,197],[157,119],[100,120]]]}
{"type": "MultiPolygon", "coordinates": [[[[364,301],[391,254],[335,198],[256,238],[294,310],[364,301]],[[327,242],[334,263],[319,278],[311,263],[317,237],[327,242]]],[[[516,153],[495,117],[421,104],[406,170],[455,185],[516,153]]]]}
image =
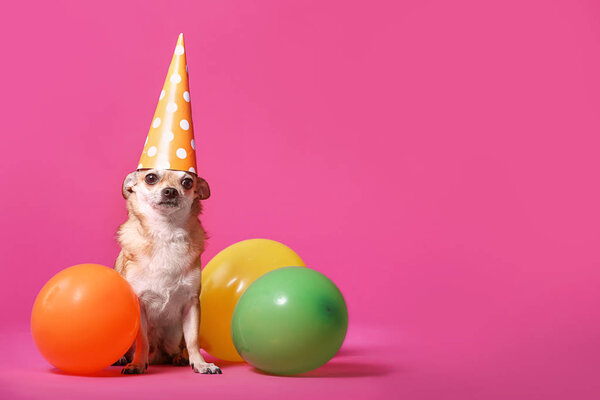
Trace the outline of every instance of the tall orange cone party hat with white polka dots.
{"type": "Polygon", "coordinates": [[[179,34],[138,169],[196,173],[196,146],[183,33],[179,34]]]}

